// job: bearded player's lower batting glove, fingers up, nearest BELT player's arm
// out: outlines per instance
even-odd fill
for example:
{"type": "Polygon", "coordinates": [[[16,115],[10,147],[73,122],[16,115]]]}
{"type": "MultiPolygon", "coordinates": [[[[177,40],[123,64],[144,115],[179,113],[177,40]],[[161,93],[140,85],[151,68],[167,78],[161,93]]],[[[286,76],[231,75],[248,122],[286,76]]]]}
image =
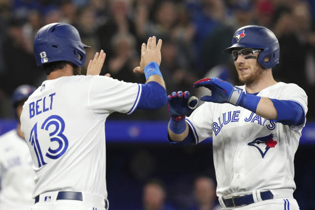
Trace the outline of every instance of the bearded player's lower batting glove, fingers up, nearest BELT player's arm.
{"type": "Polygon", "coordinates": [[[189,98],[189,91],[172,92],[167,96],[169,115],[173,120],[184,120],[185,116],[197,107],[198,98],[189,98]]]}

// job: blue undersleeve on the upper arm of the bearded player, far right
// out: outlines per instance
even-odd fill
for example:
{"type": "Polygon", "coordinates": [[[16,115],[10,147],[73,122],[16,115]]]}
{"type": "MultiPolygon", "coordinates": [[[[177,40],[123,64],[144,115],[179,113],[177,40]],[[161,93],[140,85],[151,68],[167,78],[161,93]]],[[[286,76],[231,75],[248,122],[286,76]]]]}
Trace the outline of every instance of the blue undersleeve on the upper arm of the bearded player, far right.
{"type": "Polygon", "coordinates": [[[281,122],[285,125],[301,125],[305,120],[305,111],[298,102],[290,100],[271,99],[277,112],[278,119],[275,122],[281,122]]]}

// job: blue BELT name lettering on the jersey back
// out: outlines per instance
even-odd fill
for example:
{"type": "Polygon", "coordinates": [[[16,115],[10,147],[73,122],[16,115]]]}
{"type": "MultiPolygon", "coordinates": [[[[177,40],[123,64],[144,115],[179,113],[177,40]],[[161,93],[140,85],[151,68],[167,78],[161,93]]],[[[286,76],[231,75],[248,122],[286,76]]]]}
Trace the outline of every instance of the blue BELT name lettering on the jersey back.
{"type": "Polygon", "coordinates": [[[39,115],[43,112],[53,109],[53,97],[56,95],[56,92],[50,94],[48,97],[45,96],[38,100],[30,103],[30,119],[35,115],[39,115]],[[46,99],[47,98],[47,99],[46,99]]]}

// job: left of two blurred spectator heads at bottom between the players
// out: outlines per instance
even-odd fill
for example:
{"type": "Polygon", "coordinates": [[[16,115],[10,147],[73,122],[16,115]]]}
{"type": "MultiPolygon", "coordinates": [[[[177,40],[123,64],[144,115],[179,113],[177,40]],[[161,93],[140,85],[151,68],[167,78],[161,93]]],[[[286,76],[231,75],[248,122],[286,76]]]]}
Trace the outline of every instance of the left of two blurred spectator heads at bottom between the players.
{"type": "Polygon", "coordinates": [[[161,181],[151,180],[143,187],[143,210],[175,210],[165,204],[166,192],[161,181]]]}

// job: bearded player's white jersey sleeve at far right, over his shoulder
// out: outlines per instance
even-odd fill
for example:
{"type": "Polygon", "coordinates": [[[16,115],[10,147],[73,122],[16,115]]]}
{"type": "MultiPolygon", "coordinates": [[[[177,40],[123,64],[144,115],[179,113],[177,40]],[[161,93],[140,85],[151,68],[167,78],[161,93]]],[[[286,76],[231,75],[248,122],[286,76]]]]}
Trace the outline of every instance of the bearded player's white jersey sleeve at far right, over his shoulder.
{"type": "Polygon", "coordinates": [[[306,113],[308,111],[306,92],[298,85],[290,83],[286,84],[282,88],[281,94],[279,95],[278,99],[294,101],[302,107],[304,112],[304,122],[301,125],[289,125],[292,130],[301,129],[306,123],[306,113]]]}

